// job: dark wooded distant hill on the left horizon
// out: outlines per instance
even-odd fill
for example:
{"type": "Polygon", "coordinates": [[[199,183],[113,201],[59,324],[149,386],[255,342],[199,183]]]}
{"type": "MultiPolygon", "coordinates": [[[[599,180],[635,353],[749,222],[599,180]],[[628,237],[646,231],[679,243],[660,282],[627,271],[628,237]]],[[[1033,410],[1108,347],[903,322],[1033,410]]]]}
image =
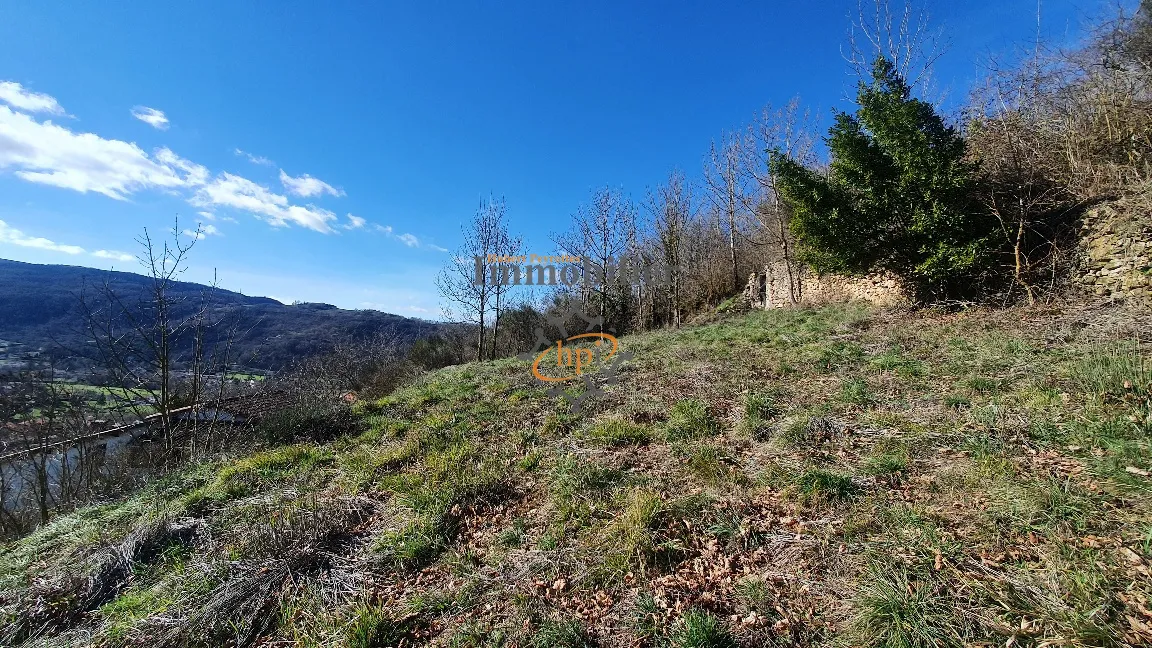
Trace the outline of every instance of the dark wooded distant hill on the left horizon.
{"type": "MultiPolygon", "coordinates": [[[[83,348],[86,344],[79,307],[82,293],[98,297],[107,285],[126,303],[137,303],[150,281],[131,272],[0,259],[0,340],[22,344],[18,348],[28,351],[43,349],[46,354],[66,356],[63,348],[83,348]]],[[[377,310],[343,310],[323,303],[286,306],[268,297],[192,282],[176,284],[173,295],[181,302],[177,307],[181,315],[194,312],[206,299],[213,318],[235,321],[233,355],[253,369],[280,369],[341,340],[384,331],[415,340],[439,326],[377,310]]],[[[227,337],[222,327],[214,336],[212,341],[227,337]]]]}

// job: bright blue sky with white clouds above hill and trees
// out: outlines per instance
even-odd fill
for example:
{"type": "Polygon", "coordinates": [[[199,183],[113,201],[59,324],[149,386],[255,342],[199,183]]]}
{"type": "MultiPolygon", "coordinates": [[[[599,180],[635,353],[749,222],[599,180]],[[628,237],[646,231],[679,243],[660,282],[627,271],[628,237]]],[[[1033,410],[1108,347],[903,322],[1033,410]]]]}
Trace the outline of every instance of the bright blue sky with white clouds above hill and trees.
{"type": "MultiPolygon", "coordinates": [[[[1106,5],[1047,1],[1078,38],[1106,5]]],[[[961,99],[1034,0],[930,5],[961,99]]],[[[642,198],[798,96],[849,110],[856,1],[0,5],[0,257],[137,270],[202,223],[190,280],[435,317],[480,198],[529,251],[598,187],[642,198]]],[[[0,277],[2,280],[2,277],[0,277]]]]}

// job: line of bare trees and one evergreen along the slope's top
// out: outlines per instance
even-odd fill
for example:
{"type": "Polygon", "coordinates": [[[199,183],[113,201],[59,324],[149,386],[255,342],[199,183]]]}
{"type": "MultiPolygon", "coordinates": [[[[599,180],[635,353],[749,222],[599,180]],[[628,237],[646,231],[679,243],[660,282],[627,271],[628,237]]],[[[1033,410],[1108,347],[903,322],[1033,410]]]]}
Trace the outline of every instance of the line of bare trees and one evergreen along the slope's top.
{"type": "Polygon", "coordinates": [[[642,199],[596,190],[552,236],[556,253],[593,265],[665,264],[668,280],[547,293],[477,284],[473,256],[526,251],[505,201],[485,201],[438,282],[467,333],[425,344],[458,360],[510,355],[574,302],[616,332],[679,326],[766,264],[794,300],[806,272],[892,273],[919,303],[1059,295],[1084,210],[1147,178],[1152,3],[1100,22],[1076,48],[1037,43],[1011,66],[988,66],[954,119],[924,97],[939,56],[926,14],[881,3],[850,33],[856,110],[835,113],[824,146],[799,100],[768,106],[713,143],[699,181],[674,171],[642,199]]]}

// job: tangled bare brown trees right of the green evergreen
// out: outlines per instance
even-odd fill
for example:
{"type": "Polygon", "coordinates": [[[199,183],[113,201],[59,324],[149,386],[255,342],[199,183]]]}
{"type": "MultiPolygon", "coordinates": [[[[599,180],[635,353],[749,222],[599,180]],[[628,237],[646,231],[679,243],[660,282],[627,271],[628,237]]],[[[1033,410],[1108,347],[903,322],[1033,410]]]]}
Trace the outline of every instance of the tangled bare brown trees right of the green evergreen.
{"type": "MultiPolygon", "coordinates": [[[[1040,15],[1037,14],[1039,25],[1040,15]]],[[[1000,221],[998,268],[1029,303],[1052,295],[1077,255],[1077,219],[1144,182],[1152,160],[1152,3],[1063,50],[1037,40],[1010,65],[987,63],[969,115],[980,198],[1000,221]]],[[[998,274],[1001,272],[998,272],[998,274]]]]}

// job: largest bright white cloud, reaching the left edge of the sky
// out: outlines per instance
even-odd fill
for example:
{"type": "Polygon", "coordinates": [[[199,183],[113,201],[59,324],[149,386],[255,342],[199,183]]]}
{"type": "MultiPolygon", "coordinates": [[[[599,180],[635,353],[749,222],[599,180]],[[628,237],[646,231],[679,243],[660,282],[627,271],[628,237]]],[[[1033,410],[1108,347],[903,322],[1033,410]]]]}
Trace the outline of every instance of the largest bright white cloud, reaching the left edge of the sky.
{"type": "Polygon", "coordinates": [[[185,184],[180,168],[165,165],[161,156],[180,160],[167,149],[153,159],[136,144],[73,133],[0,106],[0,169],[15,167],[16,175],[29,182],[118,201],[139,189],[185,184]]]}

